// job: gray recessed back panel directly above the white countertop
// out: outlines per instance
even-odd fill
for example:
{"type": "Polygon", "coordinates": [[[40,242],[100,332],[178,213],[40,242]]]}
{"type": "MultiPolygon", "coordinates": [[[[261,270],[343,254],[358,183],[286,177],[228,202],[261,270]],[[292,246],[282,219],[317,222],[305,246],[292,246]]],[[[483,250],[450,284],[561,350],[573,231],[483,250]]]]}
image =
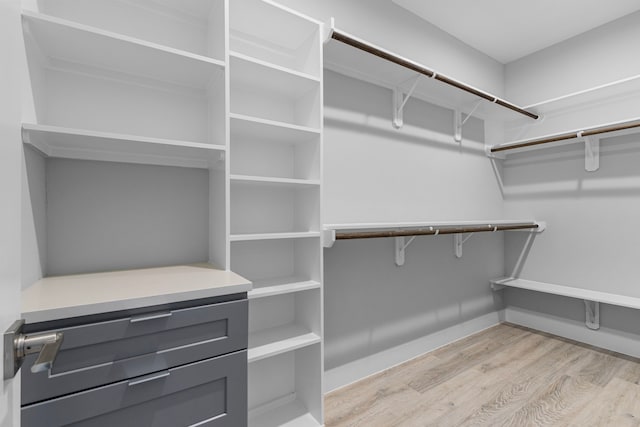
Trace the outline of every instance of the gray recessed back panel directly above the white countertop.
{"type": "Polygon", "coordinates": [[[207,170],[25,152],[44,275],[207,261],[207,170]]]}

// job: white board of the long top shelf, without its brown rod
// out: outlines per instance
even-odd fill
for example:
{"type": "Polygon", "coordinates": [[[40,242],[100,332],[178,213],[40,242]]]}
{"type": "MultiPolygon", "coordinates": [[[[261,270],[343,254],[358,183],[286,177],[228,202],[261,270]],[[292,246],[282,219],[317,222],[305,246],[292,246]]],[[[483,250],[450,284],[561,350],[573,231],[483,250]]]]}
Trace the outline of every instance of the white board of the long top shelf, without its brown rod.
{"type": "MultiPolygon", "coordinates": [[[[340,32],[344,33],[343,31],[340,32]]],[[[369,42],[365,43],[376,49],[389,52],[393,56],[402,58],[402,55],[397,55],[389,49],[375,46],[369,42]]],[[[419,67],[433,70],[432,67],[419,64],[406,58],[402,59],[419,67]]],[[[412,71],[336,40],[331,40],[324,46],[324,67],[377,86],[389,89],[400,87],[405,90],[405,93],[411,88],[415,78],[419,75],[416,71],[412,71]]],[[[437,72],[438,70],[436,69],[434,71],[437,72]]],[[[471,85],[467,84],[467,86],[471,85]]],[[[493,98],[499,98],[481,89],[477,90],[485,92],[493,98]]],[[[460,109],[464,113],[469,113],[473,110],[476,103],[482,99],[424,75],[420,76],[420,82],[413,92],[413,97],[445,108],[460,109]]],[[[511,120],[523,117],[515,111],[501,107],[488,100],[482,100],[473,115],[483,119],[492,118],[500,120],[511,120]]],[[[534,123],[533,119],[530,120],[531,123],[534,123]]]]}

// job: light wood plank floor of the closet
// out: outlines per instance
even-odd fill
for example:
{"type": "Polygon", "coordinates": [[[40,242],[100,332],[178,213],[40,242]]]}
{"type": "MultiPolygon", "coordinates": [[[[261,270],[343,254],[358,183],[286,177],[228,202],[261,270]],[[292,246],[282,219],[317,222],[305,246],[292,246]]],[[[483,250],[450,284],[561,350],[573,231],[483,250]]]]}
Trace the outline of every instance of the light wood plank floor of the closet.
{"type": "Polygon", "coordinates": [[[326,396],[332,426],[640,426],[640,360],[503,324],[326,396]]]}

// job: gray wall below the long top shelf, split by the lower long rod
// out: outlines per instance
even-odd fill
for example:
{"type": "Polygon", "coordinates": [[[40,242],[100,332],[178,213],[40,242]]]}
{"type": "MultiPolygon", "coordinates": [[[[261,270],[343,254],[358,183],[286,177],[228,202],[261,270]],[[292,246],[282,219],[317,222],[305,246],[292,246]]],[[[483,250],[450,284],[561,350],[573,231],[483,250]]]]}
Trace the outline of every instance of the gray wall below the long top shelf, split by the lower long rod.
{"type": "MultiPolygon", "coordinates": [[[[452,112],[410,101],[391,126],[391,92],[325,70],[324,222],[478,220],[502,196],[471,119],[462,146],[452,112]]],[[[453,237],[419,237],[394,264],[394,240],[338,241],[325,250],[326,369],[501,308],[489,279],[504,271],[502,233],[477,234],[462,259],[453,237]]]]}

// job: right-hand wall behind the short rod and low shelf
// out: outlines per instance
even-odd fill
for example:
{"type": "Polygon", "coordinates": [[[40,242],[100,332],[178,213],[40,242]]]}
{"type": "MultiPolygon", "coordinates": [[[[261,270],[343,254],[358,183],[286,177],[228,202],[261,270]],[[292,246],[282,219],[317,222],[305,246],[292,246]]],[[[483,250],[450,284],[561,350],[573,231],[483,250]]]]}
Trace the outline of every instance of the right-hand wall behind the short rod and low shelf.
{"type": "MultiPolygon", "coordinates": [[[[639,75],[638,40],[640,13],[635,13],[508,64],[507,95],[526,104],[639,75]]],[[[639,115],[638,92],[629,92],[557,111],[539,127],[561,131],[639,115]]],[[[536,126],[525,132],[535,134],[536,126]]],[[[638,165],[637,133],[603,139],[596,172],[584,170],[583,144],[510,156],[504,162],[506,215],[533,216],[547,221],[548,229],[526,250],[522,236],[507,237],[507,273],[640,297],[638,165]],[[523,250],[524,262],[516,265],[523,250]]],[[[512,311],[513,319],[528,326],[640,355],[635,310],[604,306],[602,330],[593,332],[585,330],[582,301],[510,290],[506,302],[507,319],[512,311]]]]}

